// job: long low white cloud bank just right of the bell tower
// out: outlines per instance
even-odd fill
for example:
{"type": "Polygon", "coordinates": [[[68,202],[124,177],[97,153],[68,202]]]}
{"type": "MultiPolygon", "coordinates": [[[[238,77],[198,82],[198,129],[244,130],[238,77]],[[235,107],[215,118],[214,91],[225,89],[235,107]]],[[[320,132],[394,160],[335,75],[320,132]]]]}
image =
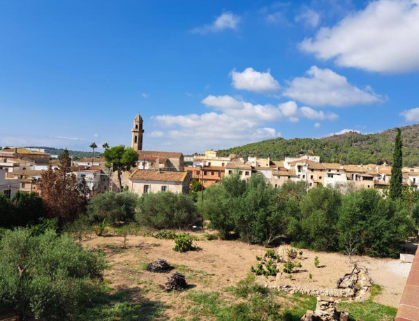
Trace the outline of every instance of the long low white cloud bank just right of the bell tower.
{"type": "MultiPolygon", "coordinates": [[[[159,115],[152,119],[163,128],[159,135],[169,146],[177,146],[185,152],[202,151],[205,148],[222,149],[248,142],[279,137],[281,133],[269,126],[276,121],[299,121],[300,118],[335,120],[337,114],[297,107],[294,101],[284,104],[260,105],[231,96],[207,96],[202,100],[214,111],[203,114],[159,115]]],[[[156,140],[157,144],[162,144],[156,140]]]]}

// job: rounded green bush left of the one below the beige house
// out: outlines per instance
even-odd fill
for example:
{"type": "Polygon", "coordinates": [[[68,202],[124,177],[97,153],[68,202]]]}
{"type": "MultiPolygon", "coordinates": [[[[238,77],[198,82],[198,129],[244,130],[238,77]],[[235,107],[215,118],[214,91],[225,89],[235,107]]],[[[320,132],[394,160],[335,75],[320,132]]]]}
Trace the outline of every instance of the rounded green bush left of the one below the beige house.
{"type": "Polygon", "coordinates": [[[87,214],[96,223],[103,220],[111,224],[133,221],[137,204],[138,195],[134,193],[105,192],[91,198],[87,214]]]}

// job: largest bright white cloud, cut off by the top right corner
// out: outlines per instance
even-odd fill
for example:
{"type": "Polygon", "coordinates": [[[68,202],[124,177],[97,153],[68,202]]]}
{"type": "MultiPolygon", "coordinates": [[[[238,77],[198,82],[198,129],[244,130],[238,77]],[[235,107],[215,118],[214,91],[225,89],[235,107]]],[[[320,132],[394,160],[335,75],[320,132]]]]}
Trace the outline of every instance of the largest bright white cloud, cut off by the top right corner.
{"type": "Polygon", "coordinates": [[[383,73],[419,70],[419,0],[372,1],[300,48],[339,66],[383,73]]]}

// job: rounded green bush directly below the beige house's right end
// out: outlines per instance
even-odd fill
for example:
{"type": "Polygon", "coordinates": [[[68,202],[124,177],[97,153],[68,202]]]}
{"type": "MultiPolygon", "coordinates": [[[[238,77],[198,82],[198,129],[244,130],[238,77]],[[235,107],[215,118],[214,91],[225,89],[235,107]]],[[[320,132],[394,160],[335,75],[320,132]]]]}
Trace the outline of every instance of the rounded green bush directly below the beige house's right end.
{"type": "Polygon", "coordinates": [[[200,221],[191,197],[171,192],[147,193],[140,197],[135,220],[157,229],[183,230],[200,221]]]}

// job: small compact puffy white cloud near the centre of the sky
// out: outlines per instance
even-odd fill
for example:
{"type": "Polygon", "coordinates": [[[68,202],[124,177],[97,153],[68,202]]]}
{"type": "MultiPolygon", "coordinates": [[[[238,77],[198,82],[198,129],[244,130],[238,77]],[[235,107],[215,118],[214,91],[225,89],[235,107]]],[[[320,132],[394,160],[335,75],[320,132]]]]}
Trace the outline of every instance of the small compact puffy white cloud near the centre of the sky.
{"type": "Polygon", "coordinates": [[[279,90],[279,83],[272,77],[270,70],[260,73],[253,68],[246,68],[242,73],[233,70],[231,84],[235,89],[244,89],[256,92],[273,92],[279,90]]]}

